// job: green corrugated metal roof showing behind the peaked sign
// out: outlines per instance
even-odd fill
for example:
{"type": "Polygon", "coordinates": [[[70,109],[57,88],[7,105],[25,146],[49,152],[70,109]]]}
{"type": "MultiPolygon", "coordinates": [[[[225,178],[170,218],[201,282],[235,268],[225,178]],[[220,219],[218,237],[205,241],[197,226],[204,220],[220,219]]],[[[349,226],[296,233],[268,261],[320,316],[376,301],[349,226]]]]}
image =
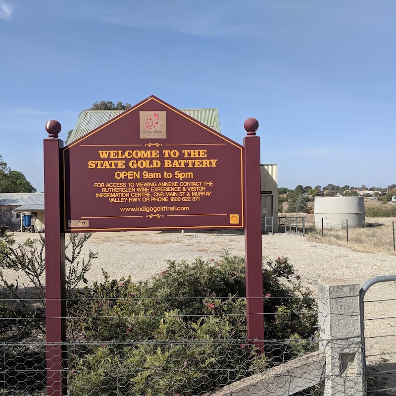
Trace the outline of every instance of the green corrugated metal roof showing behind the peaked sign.
{"type": "MultiPolygon", "coordinates": [[[[87,133],[93,131],[107,121],[110,121],[114,117],[117,117],[124,111],[125,110],[84,110],[80,114],[80,117],[78,117],[77,124],[66,144],[69,145],[75,140],[82,138],[87,133]]],[[[219,110],[217,108],[186,108],[180,111],[195,118],[202,124],[207,125],[209,128],[214,129],[216,132],[221,133],[219,110]]]]}

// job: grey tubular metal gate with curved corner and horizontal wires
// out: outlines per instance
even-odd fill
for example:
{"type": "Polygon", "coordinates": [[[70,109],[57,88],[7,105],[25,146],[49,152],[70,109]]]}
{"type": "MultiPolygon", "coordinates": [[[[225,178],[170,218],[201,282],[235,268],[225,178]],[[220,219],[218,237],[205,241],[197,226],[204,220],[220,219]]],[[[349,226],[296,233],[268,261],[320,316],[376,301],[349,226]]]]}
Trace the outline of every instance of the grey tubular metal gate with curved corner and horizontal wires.
{"type": "Polygon", "coordinates": [[[389,298],[364,301],[369,288],[379,282],[394,282],[396,275],[377,276],[367,281],[359,293],[360,300],[360,329],[362,344],[362,364],[364,395],[396,395],[396,290],[387,296],[389,298]],[[370,317],[365,317],[368,306],[366,304],[383,304],[389,306],[379,309],[376,305],[371,309],[370,317]],[[381,312],[385,316],[381,316],[381,312]],[[371,317],[373,316],[373,317],[371,317]],[[367,335],[366,324],[373,330],[367,335]],[[375,330],[374,330],[375,329],[375,330]],[[373,367],[368,368],[368,363],[373,367]]]}

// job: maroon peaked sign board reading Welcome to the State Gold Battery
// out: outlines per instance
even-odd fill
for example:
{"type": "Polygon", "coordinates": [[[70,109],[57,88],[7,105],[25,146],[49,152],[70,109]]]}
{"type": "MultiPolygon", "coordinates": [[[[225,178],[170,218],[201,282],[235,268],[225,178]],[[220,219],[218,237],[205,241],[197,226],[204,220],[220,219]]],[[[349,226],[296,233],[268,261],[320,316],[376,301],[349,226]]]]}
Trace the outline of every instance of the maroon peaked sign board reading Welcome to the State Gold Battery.
{"type": "Polygon", "coordinates": [[[63,148],[64,231],[244,228],[243,147],[151,96],[63,148]]]}

